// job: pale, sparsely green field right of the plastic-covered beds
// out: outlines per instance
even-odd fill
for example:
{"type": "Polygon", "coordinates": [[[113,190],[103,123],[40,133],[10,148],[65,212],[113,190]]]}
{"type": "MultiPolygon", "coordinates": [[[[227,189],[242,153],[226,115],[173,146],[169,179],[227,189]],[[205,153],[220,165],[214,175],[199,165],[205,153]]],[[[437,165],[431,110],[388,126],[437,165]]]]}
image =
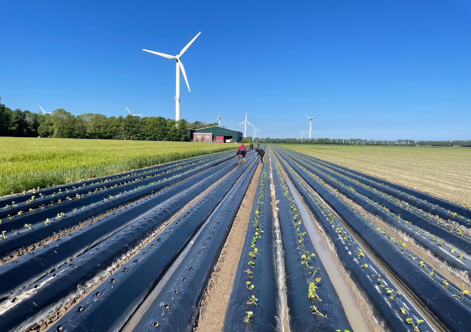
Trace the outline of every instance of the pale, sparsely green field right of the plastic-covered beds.
{"type": "Polygon", "coordinates": [[[332,163],[471,204],[471,148],[281,144],[332,163]]]}

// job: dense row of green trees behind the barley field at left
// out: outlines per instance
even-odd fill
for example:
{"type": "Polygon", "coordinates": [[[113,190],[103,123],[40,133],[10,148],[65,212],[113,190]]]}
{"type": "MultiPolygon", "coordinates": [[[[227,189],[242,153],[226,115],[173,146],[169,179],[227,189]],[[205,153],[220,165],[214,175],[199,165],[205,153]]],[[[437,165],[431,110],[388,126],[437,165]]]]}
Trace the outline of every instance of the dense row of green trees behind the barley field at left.
{"type": "Polygon", "coordinates": [[[57,108],[52,114],[32,113],[19,108],[12,110],[1,104],[0,99],[1,136],[188,141],[188,129],[209,125],[217,123],[189,123],[185,119],[175,121],[162,116],[107,117],[96,113],[74,116],[64,108],[57,108]]]}

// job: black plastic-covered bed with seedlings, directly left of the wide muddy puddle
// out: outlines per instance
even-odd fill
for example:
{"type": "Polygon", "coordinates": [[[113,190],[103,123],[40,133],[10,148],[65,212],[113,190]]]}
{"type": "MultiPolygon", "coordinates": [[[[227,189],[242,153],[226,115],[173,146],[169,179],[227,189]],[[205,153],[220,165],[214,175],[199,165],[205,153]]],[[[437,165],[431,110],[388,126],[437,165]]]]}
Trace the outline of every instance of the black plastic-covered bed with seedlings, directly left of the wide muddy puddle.
{"type": "Polygon", "coordinates": [[[340,299],[275,160],[271,161],[284,249],[286,301],[291,332],[352,331],[340,299]]]}

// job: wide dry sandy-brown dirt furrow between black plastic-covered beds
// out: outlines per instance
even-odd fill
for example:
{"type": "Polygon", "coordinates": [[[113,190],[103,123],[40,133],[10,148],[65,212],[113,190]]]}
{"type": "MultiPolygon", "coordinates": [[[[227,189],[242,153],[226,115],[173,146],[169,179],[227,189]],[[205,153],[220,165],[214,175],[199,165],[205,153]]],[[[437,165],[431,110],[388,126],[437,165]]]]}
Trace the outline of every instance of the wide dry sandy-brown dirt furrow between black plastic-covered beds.
{"type": "Polygon", "coordinates": [[[195,332],[222,331],[227,302],[229,301],[235,271],[244,245],[245,233],[249,224],[250,212],[252,211],[260,172],[261,167],[259,164],[245,193],[237,216],[235,216],[234,224],[221,250],[218,262],[211,274],[211,279],[201,302],[196,327],[193,329],[195,332]]]}

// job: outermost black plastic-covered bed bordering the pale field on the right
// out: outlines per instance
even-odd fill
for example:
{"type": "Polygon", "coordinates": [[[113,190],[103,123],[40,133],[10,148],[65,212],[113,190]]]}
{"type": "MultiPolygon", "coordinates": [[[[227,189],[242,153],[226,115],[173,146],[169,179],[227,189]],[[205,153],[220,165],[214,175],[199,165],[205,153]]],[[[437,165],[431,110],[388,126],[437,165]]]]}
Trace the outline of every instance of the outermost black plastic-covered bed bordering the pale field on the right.
{"type": "MultiPolygon", "coordinates": [[[[453,211],[446,210],[437,205],[431,204],[423,199],[417,199],[411,194],[404,193],[402,191],[399,191],[398,189],[391,188],[388,185],[385,185],[382,183],[376,183],[373,180],[366,179],[363,176],[356,175],[348,171],[344,171],[339,167],[325,165],[321,161],[317,160],[317,158],[309,158],[308,156],[297,153],[297,152],[294,152],[294,154],[306,161],[309,161],[311,165],[320,166],[324,169],[326,168],[327,170],[331,172],[339,173],[347,177],[347,179],[357,184],[365,186],[367,189],[370,189],[369,187],[371,187],[370,190],[372,191],[376,191],[376,189],[378,189],[384,192],[385,194],[387,194],[386,197],[389,196],[389,199],[392,200],[393,202],[396,202],[397,204],[401,204],[402,206],[404,206],[400,201],[397,200],[397,199],[400,199],[404,202],[407,202],[408,204],[412,206],[420,208],[422,211],[426,213],[439,216],[441,218],[444,218],[445,220],[453,220],[454,222],[458,224],[462,224],[464,226],[471,226],[471,222],[468,218],[465,218],[464,216],[460,216],[457,213],[454,213],[453,211]],[[394,198],[397,198],[397,199],[394,199],[394,198]]],[[[407,205],[405,205],[405,207],[410,210],[410,208],[407,205]]]]}

